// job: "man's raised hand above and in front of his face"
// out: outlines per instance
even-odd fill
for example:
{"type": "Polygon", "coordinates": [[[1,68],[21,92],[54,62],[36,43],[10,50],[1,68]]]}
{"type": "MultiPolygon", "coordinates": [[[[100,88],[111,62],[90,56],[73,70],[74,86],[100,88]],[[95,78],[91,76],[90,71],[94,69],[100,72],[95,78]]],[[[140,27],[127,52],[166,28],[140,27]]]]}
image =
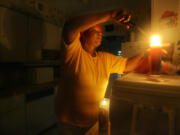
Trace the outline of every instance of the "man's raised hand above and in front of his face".
{"type": "Polygon", "coordinates": [[[131,15],[125,9],[117,9],[111,12],[111,20],[115,23],[123,25],[125,28],[130,28],[129,21],[131,15]]]}

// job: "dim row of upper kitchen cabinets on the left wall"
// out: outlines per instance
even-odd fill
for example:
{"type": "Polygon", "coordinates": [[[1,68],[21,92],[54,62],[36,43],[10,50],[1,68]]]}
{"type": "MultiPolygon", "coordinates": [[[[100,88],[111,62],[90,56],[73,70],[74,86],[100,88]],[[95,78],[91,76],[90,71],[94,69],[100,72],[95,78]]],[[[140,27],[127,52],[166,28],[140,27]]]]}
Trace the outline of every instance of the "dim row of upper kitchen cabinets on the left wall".
{"type": "Polygon", "coordinates": [[[61,27],[4,7],[0,18],[0,61],[42,60],[42,49],[60,49],[61,27]]]}

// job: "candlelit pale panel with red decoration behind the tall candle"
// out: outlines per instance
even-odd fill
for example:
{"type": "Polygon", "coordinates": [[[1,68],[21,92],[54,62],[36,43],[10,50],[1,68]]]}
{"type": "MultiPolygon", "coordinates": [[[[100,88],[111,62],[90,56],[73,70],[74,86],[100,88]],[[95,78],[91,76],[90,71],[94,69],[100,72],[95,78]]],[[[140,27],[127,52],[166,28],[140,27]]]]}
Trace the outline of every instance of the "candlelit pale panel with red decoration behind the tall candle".
{"type": "Polygon", "coordinates": [[[179,0],[152,0],[152,30],[160,33],[164,42],[174,42],[179,36],[179,0]]]}

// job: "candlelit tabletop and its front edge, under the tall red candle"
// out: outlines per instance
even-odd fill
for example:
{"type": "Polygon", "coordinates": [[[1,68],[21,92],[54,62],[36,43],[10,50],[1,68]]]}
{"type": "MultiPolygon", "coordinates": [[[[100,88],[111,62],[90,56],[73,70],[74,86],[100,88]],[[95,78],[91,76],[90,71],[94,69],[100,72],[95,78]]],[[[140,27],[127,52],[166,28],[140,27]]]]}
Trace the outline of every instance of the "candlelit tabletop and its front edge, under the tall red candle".
{"type": "Polygon", "coordinates": [[[114,96],[118,92],[129,92],[180,98],[180,76],[129,73],[117,79],[113,88],[114,96]]]}

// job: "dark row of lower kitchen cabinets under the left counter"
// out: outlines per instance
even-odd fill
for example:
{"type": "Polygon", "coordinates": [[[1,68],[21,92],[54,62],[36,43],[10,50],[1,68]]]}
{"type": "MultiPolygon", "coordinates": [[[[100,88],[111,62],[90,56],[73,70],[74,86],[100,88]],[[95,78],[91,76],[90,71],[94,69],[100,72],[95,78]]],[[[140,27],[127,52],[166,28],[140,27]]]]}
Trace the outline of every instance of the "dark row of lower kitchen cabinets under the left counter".
{"type": "Polygon", "coordinates": [[[0,135],[56,132],[54,88],[0,98],[0,135]]]}

